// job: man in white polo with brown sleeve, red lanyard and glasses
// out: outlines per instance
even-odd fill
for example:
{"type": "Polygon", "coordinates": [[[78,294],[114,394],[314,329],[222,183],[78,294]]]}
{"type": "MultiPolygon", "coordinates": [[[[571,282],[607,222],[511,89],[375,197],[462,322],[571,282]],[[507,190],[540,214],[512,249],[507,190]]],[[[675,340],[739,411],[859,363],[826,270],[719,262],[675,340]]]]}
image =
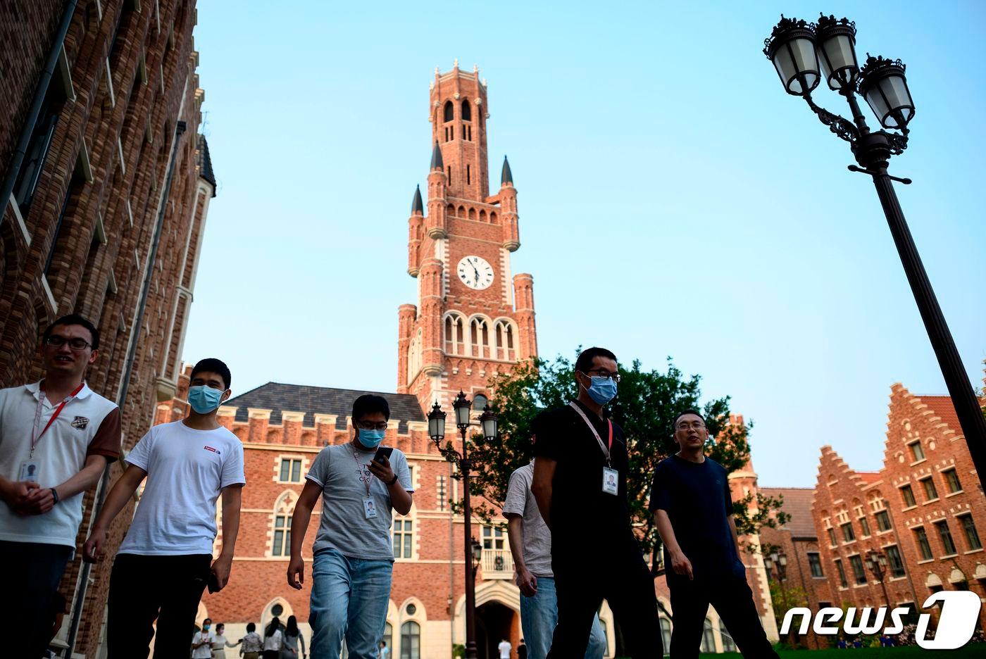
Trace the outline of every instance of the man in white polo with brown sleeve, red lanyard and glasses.
{"type": "Polygon", "coordinates": [[[83,493],[119,456],[119,409],[84,379],[99,347],[93,323],[63,316],[41,337],[44,379],[0,390],[0,620],[17,630],[11,650],[20,656],[47,648],[83,493]]]}

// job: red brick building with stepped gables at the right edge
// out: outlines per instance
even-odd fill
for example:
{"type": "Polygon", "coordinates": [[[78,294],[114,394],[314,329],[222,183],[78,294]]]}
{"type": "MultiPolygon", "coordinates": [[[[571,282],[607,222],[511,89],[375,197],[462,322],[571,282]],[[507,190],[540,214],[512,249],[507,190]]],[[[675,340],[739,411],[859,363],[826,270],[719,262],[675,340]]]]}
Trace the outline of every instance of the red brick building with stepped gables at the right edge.
{"type": "Polygon", "coordinates": [[[821,449],[812,514],[830,601],[920,607],[942,589],[986,599],[984,503],[951,399],[894,384],[879,472],[821,449]],[[885,561],[882,582],[871,552],[885,561]]]}

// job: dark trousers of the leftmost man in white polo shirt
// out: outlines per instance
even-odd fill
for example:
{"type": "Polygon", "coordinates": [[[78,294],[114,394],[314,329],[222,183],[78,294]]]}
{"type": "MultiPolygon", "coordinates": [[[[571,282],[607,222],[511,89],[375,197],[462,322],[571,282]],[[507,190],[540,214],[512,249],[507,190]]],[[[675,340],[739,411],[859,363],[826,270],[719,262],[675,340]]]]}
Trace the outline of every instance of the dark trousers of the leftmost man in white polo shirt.
{"type": "Polygon", "coordinates": [[[39,657],[47,649],[57,613],[51,604],[71,555],[67,545],[0,541],[0,620],[18,639],[15,654],[39,657]]]}

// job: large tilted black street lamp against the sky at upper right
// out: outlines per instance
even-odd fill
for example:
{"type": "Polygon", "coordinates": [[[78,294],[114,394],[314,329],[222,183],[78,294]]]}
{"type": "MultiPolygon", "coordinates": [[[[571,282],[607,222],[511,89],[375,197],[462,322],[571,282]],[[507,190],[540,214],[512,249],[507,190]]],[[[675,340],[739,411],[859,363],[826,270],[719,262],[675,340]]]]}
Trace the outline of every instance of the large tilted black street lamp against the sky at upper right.
{"type": "Polygon", "coordinates": [[[818,119],[849,143],[856,162],[861,165],[849,165],[849,169],[873,177],[883,214],[942,368],[979,482],[986,487],[986,420],[893,189],[892,181],[904,184],[911,181],[891,176],[886,170],[890,157],[900,155],[907,148],[907,124],[914,116],[904,64],[899,59],[868,55],[866,64],[860,68],[856,59],[856,24],[845,18],[836,20],[834,16],[824,15],[817,23],[782,16],[764,40],[763,52],[777,69],[785,91],[805,99],[818,119]],[[811,99],[811,91],[822,79],[829,89],[845,97],[852,121],[819,107],[811,99]],[[900,132],[871,131],[856,99],[857,94],[866,99],[883,128],[900,132]]]}

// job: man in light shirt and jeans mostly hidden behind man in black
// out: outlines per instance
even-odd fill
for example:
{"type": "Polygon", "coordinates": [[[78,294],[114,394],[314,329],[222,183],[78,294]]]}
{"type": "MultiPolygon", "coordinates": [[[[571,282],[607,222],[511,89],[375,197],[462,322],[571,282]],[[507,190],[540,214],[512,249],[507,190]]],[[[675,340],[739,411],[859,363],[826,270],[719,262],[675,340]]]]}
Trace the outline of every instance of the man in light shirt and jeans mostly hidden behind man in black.
{"type": "MultiPolygon", "coordinates": [[[[551,572],[551,532],[530,492],[533,475],[533,462],[511,475],[503,516],[507,518],[517,587],[521,589],[521,627],[528,645],[528,659],[544,659],[558,623],[558,601],[551,572]]],[[[586,659],[602,659],[605,651],[606,638],[597,615],[586,659]]]]}

